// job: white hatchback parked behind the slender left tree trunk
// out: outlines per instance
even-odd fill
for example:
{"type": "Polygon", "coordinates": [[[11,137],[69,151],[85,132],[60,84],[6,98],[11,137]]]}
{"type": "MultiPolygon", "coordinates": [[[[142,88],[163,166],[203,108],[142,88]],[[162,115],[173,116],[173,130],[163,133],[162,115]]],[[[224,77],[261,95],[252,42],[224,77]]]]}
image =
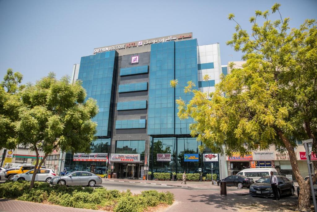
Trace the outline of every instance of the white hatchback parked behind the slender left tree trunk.
{"type": "MultiPolygon", "coordinates": [[[[12,177],[13,181],[18,180],[26,180],[31,181],[33,177],[34,169],[24,173],[24,174],[16,174],[12,177]]],[[[45,181],[49,182],[56,174],[53,169],[41,168],[38,173],[35,175],[35,181],[45,181]]]]}

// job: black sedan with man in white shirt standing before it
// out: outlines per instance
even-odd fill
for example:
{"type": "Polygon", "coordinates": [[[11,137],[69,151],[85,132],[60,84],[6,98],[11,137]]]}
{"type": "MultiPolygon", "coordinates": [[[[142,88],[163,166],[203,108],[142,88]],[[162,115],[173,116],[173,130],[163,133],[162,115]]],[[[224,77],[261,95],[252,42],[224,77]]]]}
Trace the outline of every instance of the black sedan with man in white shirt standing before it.
{"type": "MultiPolygon", "coordinates": [[[[250,195],[274,197],[270,177],[271,176],[261,177],[258,181],[256,181],[256,183],[252,184],[249,191],[250,195]]],[[[295,186],[293,181],[288,180],[285,176],[277,176],[277,179],[279,181],[279,185],[277,187],[279,198],[283,195],[294,195],[295,186]]]]}

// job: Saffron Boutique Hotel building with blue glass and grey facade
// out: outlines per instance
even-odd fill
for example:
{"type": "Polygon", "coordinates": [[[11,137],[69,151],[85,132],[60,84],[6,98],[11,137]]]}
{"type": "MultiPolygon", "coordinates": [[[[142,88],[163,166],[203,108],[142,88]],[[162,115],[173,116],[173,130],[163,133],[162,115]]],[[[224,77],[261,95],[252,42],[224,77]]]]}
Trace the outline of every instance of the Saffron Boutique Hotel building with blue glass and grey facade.
{"type": "Polygon", "coordinates": [[[98,102],[93,119],[98,140],[91,150],[107,154],[110,163],[67,153],[65,167],[98,174],[109,168],[114,177],[138,179],[146,170],[207,174],[213,164],[213,173],[221,177],[225,161],[220,156],[205,161],[203,155],[211,152],[198,152],[201,143],[189,130],[193,120],[177,116],[175,100],[188,101],[192,94],[184,93],[182,86],[172,88],[170,81],[192,81],[195,89],[212,92],[222,73],[227,72],[221,67],[219,44],[199,46],[192,33],[95,48],[74,66],[73,79],[81,80],[87,98],[98,102]],[[209,81],[203,80],[205,74],[209,81]],[[188,154],[198,154],[198,159],[186,161],[188,154]]]}

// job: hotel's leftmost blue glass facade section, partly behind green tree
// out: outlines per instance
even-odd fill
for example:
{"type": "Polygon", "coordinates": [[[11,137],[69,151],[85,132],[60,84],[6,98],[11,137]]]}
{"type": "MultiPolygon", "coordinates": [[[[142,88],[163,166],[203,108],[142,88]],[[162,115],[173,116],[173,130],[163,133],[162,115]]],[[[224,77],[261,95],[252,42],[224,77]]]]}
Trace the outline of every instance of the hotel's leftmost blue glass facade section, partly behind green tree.
{"type": "Polygon", "coordinates": [[[93,118],[98,124],[96,136],[111,133],[117,57],[116,51],[107,51],[81,58],[78,79],[87,91],[87,98],[96,99],[99,106],[99,113],[93,118]]]}

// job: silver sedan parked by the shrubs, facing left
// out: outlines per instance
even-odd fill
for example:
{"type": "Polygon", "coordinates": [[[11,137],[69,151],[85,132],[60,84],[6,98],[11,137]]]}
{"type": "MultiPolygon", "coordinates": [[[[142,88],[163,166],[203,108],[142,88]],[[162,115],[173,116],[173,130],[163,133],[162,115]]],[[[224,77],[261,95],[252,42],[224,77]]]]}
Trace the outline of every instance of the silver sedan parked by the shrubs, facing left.
{"type": "Polygon", "coordinates": [[[85,171],[75,171],[65,176],[54,177],[49,181],[51,185],[61,184],[61,185],[83,185],[94,187],[95,185],[100,185],[102,183],[101,177],[85,171]]]}

